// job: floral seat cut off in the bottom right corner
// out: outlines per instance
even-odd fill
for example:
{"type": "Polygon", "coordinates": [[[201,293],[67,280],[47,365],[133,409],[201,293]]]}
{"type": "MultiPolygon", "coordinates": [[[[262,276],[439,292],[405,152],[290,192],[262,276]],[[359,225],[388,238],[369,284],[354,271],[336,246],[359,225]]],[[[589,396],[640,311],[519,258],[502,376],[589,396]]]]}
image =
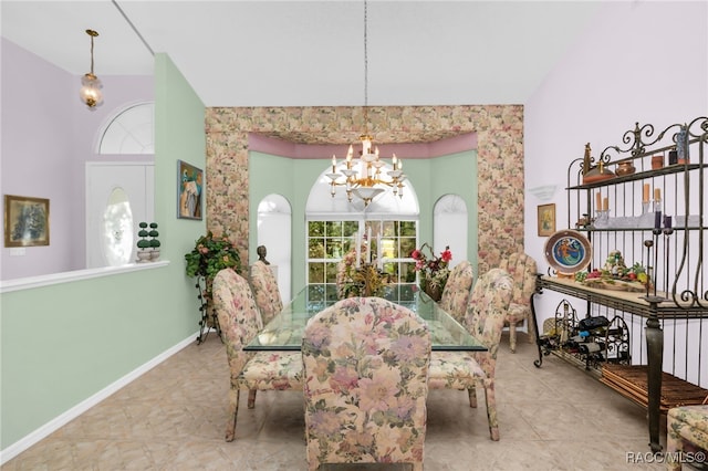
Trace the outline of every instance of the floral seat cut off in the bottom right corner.
{"type": "MultiPolygon", "coordinates": [[[[668,409],[666,416],[666,453],[667,469],[679,471],[684,457],[690,457],[685,448],[685,442],[693,448],[708,450],[708,406],[705,406],[708,398],[704,400],[704,406],[680,406],[668,409]]],[[[693,456],[696,457],[697,453],[693,456]]],[[[704,456],[705,459],[705,456],[704,456]]],[[[696,463],[705,464],[705,463],[696,463]]]]}

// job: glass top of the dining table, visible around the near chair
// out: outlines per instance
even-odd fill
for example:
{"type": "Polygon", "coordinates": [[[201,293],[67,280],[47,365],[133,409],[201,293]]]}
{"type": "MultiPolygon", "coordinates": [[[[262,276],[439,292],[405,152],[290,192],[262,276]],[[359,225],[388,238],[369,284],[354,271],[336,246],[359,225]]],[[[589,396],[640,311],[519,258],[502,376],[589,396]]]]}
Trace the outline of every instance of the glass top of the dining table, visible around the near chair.
{"type": "MultiPolygon", "coordinates": [[[[271,322],[263,326],[243,349],[249,352],[299,350],[308,321],[337,301],[323,301],[323,297],[316,289],[305,286],[271,322]]],[[[384,297],[408,307],[428,324],[433,350],[487,350],[479,339],[449,313],[442,311],[425,292],[408,291],[402,296],[399,290],[392,290],[384,297]]]]}

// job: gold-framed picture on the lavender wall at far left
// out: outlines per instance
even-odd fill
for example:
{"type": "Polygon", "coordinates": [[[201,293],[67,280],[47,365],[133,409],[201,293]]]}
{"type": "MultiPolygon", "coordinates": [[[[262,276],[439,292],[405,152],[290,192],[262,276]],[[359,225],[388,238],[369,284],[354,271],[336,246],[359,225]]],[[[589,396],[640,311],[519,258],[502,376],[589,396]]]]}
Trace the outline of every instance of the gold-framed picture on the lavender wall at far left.
{"type": "Polygon", "coordinates": [[[49,199],[4,196],[4,247],[49,245],[49,199]]]}

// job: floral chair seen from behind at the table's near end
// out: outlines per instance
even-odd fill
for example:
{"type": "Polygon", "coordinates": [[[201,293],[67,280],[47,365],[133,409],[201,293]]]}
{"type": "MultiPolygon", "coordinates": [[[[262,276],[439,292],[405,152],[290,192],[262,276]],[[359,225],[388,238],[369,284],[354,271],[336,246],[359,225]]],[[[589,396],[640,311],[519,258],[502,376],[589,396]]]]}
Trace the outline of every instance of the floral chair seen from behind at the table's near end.
{"type": "Polygon", "coordinates": [[[412,463],[423,470],[430,334],[406,307],[348,297],[302,339],[308,463],[412,463]]]}

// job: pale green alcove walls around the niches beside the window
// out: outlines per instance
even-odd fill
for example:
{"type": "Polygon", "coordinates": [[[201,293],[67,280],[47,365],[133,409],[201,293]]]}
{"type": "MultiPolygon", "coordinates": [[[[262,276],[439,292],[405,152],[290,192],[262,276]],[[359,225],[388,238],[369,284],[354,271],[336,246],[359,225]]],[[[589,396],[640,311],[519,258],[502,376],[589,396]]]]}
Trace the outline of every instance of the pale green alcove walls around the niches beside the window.
{"type": "MultiPolygon", "coordinates": [[[[268,195],[283,196],[292,207],[292,293],[305,284],[305,203],[310,189],[326,168],[326,159],[291,159],[249,153],[249,261],[256,260],[258,203],[268,195]]],[[[419,241],[433,241],[433,208],[455,193],[467,203],[468,260],[477,272],[477,151],[466,150],[430,159],[406,159],[405,172],[420,207],[419,241]]]]}

